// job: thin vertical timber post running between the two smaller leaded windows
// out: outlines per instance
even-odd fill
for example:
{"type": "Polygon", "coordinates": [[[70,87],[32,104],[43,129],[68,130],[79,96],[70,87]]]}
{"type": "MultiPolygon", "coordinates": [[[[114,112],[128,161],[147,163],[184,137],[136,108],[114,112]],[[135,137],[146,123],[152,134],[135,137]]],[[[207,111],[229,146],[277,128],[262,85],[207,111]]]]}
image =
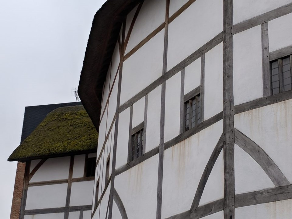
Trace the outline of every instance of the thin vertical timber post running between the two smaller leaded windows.
{"type": "MultiPolygon", "coordinates": [[[[166,0],[162,75],[164,75],[166,73],[166,68],[167,68],[169,2],[170,2],[170,0],[166,0]]],[[[161,90],[161,110],[160,110],[160,140],[159,140],[156,219],[161,219],[161,211],[162,211],[162,178],[163,178],[163,155],[164,155],[164,122],[165,122],[166,81],[162,83],[161,89],[162,90],[161,90]]]]}

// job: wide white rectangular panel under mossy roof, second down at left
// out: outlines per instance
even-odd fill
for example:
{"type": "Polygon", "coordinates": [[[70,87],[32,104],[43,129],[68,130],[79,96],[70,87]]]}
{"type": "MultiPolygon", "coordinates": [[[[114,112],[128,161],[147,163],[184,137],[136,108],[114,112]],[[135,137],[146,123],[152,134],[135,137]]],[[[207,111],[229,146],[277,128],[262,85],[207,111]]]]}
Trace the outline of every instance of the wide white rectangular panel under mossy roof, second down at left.
{"type": "Polygon", "coordinates": [[[62,183],[28,187],[25,209],[65,207],[67,185],[62,183]]]}

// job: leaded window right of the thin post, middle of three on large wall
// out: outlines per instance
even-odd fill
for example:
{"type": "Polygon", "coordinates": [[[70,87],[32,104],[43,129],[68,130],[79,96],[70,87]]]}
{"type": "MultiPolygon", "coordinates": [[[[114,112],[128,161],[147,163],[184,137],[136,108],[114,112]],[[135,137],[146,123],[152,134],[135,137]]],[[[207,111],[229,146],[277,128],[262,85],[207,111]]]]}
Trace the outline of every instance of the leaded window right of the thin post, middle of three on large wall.
{"type": "Polygon", "coordinates": [[[184,130],[187,131],[201,123],[200,94],[192,97],[184,104],[184,130]]]}

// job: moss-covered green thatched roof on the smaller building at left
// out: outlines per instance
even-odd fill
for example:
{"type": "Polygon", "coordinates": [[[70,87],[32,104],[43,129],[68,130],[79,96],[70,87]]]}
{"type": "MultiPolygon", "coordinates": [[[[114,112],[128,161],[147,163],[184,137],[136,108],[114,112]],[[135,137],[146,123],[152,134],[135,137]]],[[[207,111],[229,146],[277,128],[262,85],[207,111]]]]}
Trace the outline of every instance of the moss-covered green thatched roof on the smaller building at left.
{"type": "Polygon", "coordinates": [[[50,112],[10,155],[8,161],[81,154],[97,148],[98,133],[83,106],[50,112]]]}

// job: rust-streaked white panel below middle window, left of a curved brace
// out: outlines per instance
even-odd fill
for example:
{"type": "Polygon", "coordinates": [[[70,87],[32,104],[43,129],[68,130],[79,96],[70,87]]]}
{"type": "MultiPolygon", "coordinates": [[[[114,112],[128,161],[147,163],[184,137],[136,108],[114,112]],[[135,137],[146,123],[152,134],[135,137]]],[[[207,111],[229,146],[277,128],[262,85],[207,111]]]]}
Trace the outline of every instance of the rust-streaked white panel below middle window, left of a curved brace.
{"type": "Polygon", "coordinates": [[[222,132],[221,120],[164,151],[162,218],[190,209],[203,171],[222,132]]]}

